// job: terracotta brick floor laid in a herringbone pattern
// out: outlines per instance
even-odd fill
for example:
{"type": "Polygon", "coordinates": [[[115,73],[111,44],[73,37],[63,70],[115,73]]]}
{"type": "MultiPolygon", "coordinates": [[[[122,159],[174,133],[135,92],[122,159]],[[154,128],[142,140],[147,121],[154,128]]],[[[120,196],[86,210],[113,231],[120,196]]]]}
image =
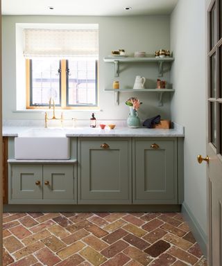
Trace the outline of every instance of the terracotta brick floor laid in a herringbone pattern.
{"type": "Polygon", "coordinates": [[[207,265],[181,213],[4,213],[3,266],[207,265]]]}

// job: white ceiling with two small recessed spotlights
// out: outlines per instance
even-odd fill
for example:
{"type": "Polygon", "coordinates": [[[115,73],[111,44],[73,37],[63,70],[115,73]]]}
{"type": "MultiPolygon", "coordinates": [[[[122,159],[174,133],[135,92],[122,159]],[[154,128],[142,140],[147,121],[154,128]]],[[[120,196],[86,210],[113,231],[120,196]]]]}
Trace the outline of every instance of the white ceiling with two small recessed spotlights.
{"type": "Polygon", "coordinates": [[[1,0],[2,15],[169,15],[178,0],[1,0]],[[50,10],[52,6],[54,9],[50,10]],[[124,10],[131,7],[131,10],[124,10]]]}

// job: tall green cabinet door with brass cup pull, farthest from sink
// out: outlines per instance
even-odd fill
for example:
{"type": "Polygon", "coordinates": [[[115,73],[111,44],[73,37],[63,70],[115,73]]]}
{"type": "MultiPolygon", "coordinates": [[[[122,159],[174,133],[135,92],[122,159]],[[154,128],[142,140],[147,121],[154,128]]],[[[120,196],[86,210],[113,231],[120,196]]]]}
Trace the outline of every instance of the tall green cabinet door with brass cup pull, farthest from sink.
{"type": "Polygon", "coordinates": [[[133,150],[133,203],[178,203],[176,140],[136,139],[133,150]]]}

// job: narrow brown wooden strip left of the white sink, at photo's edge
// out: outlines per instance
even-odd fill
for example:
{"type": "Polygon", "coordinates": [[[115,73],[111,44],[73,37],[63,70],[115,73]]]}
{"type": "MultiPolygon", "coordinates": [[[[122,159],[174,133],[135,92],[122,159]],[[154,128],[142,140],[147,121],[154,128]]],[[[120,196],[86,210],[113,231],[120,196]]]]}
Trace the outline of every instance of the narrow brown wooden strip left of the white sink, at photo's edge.
{"type": "Polygon", "coordinates": [[[8,203],[8,138],[3,137],[2,142],[2,163],[3,163],[3,204],[8,203]]]}

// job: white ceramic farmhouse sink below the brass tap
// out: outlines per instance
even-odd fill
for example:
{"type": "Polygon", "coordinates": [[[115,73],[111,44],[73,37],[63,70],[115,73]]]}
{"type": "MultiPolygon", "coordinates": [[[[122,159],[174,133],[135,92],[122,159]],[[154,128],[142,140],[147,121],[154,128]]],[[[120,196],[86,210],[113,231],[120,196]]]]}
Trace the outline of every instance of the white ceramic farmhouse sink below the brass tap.
{"type": "Polygon", "coordinates": [[[62,160],[70,158],[69,138],[62,129],[36,128],[15,137],[15,159],[62,160]]]}

